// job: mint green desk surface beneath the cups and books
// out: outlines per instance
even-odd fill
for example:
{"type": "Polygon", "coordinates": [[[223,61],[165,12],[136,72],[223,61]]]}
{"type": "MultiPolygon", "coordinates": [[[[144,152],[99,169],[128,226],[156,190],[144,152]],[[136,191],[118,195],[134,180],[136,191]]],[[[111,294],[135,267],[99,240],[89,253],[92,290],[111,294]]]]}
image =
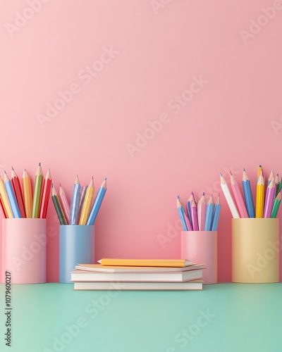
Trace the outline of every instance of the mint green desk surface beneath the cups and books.
{"type": "Polygon", "coordinates": [[[4,306],[0,284],[0,351],[282,351],[282,284],[111,292],[13,285],[11,347],[4,306]]]}

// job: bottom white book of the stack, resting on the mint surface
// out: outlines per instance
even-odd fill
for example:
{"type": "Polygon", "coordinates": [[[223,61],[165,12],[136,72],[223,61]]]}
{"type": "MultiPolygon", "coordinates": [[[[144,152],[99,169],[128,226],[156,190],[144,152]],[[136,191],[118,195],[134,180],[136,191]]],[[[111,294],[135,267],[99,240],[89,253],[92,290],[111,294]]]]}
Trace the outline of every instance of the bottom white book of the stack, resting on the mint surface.
{"type": "Polygon", "coordinates": [[[198,282],[74,282],[75,290],[188,291],[202,290],[198,282]]]}

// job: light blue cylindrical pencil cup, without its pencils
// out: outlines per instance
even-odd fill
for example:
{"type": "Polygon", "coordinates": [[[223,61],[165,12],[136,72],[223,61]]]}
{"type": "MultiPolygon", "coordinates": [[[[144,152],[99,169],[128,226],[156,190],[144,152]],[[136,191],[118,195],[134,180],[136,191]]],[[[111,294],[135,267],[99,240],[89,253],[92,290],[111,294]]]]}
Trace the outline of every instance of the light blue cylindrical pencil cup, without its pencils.
{"type": "Polygon", "coordinates": [[[95,226],[60,225],[59,282],[71,284],[71,271],[78,263],[94,263],[95,226]]]}

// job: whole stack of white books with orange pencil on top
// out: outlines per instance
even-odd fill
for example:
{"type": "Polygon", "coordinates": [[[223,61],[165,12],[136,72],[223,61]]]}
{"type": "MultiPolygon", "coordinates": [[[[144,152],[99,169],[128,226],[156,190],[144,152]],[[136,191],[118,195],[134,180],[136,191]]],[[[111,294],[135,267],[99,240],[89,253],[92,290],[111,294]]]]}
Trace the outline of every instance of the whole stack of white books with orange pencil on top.
{"type": "Polygon", "coordinates": [[[184,259],[102,259],[71,272],[75,290],[202,290],[203,264],[184,259]]]}

